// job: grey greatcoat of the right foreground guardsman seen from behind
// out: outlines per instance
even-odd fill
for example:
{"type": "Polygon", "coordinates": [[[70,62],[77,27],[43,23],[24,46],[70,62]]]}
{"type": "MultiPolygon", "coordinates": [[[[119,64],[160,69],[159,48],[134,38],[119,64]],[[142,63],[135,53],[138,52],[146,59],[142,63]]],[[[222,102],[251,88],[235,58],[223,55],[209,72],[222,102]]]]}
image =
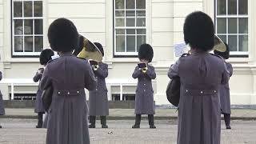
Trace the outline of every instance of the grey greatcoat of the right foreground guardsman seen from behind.
{"type": "Polygon", "coordinates": [[[220,144],[221,109],[218,89],[229,80],[224,60],[206,52],[181,57],[169,78],[181,80],[178,144],[220,144]]]}

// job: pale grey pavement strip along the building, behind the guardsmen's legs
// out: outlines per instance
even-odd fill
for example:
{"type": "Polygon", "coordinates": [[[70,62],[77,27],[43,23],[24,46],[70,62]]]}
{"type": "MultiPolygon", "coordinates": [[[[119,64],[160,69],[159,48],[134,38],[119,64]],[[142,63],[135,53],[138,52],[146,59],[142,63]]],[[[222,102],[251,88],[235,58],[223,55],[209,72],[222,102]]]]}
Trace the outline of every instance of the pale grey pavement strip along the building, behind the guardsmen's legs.
{"type": "MultiPolygon", "coordinates": [[[[233,120],[256,120],[255,109],[232,109],[231,118],[233,120]]],[[[176,109],[156,109],[155,119],[176,119],[178,111],[176,109]]],[[[34,109],[12,109],[6,108],[6,115],[0,118],[37,118],[34,109]]],[[[144,119],[146,115],[144,115],[144,119]]],[[[134,119],[134,109],[110,109],[110,120],[132,120],[134,119]]]]}

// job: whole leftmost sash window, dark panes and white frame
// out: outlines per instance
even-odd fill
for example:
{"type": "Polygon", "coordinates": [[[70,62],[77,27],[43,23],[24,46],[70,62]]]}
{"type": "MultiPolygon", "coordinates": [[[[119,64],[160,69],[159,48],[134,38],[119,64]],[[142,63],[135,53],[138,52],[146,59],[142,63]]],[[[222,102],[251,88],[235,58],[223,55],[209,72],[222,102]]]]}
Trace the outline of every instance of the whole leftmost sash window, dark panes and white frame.
{"type": "Polygon", "coordinates": [[[39,55],[43,48],[42,0],[12,1],[12,54],[39,55]]]}

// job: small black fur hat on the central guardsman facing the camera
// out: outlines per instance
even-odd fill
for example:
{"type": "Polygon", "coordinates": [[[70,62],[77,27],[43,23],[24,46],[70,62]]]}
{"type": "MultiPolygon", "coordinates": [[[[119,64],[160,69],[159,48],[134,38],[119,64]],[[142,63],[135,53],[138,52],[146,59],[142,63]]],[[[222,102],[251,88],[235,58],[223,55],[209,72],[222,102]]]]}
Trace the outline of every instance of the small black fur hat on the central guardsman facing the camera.
{"type": "Polygon", "coordinates": [[[141,59],[146,59],[149,62],[152,62],[152,58],[154,56],[154,51],[152,46],[150,46],[149,44],[142,44],[141,46],[139,46],[138,49],[138,58],[141,59]]]}

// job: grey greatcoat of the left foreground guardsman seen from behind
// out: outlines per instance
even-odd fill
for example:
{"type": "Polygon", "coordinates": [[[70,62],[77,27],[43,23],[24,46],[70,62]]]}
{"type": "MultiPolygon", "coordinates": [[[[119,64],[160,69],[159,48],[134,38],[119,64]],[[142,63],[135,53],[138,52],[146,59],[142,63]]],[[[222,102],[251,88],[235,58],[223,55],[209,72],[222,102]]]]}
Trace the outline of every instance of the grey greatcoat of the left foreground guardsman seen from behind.
{"type": "Polygon", "coordinates": [[[90,144],[86,104],[87,90],[96,80],[89,62],[71,53],[49,62],[41,80],[41,89],[54,87],[46,134],[46,144],[90,144]]]}

